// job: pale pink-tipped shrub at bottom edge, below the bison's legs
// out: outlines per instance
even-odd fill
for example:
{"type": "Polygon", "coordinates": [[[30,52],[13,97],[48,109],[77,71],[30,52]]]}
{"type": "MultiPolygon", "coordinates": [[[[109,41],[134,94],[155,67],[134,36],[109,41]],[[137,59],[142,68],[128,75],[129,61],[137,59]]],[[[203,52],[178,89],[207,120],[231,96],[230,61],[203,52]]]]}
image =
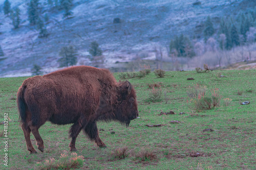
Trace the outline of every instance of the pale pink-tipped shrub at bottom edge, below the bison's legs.
{"type": "Polygon", "coordinates": [[[43,163],[38,163],[37,166],[38,169],[77,169],[82,167],[83,160],[83,156],[77,156],[77,153],[69,154],[68,151],[64,151],[58,160],[50,158],[43,163]]]}

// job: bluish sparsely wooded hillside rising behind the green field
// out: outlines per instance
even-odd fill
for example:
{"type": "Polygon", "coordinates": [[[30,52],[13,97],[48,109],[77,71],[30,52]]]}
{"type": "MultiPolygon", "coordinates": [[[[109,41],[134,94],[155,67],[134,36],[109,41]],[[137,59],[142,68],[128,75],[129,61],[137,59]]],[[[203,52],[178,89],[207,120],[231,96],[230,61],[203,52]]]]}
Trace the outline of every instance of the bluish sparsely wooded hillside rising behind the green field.
{"type": "MultiPolygon", "coordinates": [[[[155,59],[157,46],[168,46],[170,38],[183,33],[202,38],[203,21],[210,15],[215,24],[222,16],[251,9],[254,1],[73,1],[73,17],[63,18],[63,10],[40,1],[49,15],[47,38],[38,38],[38,30],[30,26],[27,8],[30,1],[11,1],[19,7],[22,22],[13,29],[12,21],[3,10],[0,13],[0,44],[5,56],[0,58],[0,77],[29,76],[33,64],[45,72],[57,69],[62,46],[74,45],[78,50],[77,65],[90,65],[89,44],[96,40],[105,56],[105,67],[116,61],[131,61],[136,56],[155,59]],[[120,23],[113,23],[120,18],[120,23]]],[[[3,9],[4,0],[0,1],[3,9]]]]}

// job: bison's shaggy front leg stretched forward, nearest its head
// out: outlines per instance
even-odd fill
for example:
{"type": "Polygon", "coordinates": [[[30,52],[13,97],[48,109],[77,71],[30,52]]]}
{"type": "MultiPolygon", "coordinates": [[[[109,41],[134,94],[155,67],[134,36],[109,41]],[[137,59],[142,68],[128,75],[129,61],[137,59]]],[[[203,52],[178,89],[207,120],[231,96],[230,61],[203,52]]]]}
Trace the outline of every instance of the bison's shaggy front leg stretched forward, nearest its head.
{"type": "Polygon", "coordinates": [[[105,148],[106,144],[102,142],[102,140],[99,138],[99,131],[97,128],[96,121],[94,122],[89,122],[85,127],[84,127],[84,132],[87,134],[87,136],[91,139],[94,140],[95,143],[97,143],[98,147],[105,148]]]}

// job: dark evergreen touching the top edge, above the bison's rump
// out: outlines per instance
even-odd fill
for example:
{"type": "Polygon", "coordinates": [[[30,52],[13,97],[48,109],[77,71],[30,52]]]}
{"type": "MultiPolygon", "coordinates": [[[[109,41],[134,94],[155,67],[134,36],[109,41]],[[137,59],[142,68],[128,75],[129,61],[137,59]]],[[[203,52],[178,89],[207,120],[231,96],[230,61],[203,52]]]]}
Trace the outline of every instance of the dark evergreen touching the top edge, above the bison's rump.
{"type": "Polygon", "coordinates": [[[31,0],[28,8],[29,22],[31,25],[36,25],[39,18],[39,0],[31,0]]]}

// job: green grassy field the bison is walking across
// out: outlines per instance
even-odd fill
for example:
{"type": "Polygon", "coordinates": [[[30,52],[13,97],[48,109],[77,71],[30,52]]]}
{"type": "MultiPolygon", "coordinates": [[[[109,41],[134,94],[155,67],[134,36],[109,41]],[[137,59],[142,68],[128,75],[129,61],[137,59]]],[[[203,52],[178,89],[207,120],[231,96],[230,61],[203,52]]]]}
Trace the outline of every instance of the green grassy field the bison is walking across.
{"type": "MultiPolygon", "coordinates": [[[[114,74],[119,80],[120,73],[114,74]]],[[[71,125],[46,123],[39,129],[45,152],[29,154],[18,122],[16,93],[27,77],[0,79],[0,122],[8,113],[8,167],[1,160],[0,169],[35,169],[37,162],[59,159],[69,151],[68,131],[71,125]]],[[[154,73],[144,78],[128,79],[137,91],[138,119],[126,128],[119,123],[98,123],[99,136],[108,148],[97,148],[82,132],[76,141],[77,154],[84,157],[80,169],[255,169],[256,168],[256,70],[168,71],[164,78],[154,73]],[[221,75],[221,76],[220,76],[221,75]],[[194,78],[195,80],[187,80],[194,78]],[[148,84],[160,84],[162,100],[152,102],[148,84]],[[197,112],[187,95],[200,87],[210,95],[219,91],[220,106],[197,112]],[[166,92],[166,96],[165,93],[166,92]],[[231,103],[225,104],[226,101],[231,103]],[[229,99],[229,100],[228,100],[229,99]],[[167,103],[166,103],[167,101],[167,103]],[[248,105],[241,105],[249,101],[248,105]],[[174,111],[176,114],[159,115],[174,111]],[[184,112],[185,114],[179,114],[184,112]],[[178,120],[181,123],[172,124],[178,120]],[[147,127],[145,125],[163,125],[147,127]],[[213,131],[205,129],[212,129],[213,131]],[[104,130],[104,131],[103,131],[104,130]],[[115,131],[115,134],[110,133],[115,131]],[[115,158],[113,152],[127,147],[127,157],[115,158]],[[141,159],[142,151],[151,158],[141,159]],[[128,155],[129,154],[129,155],[128,155]]],[[[0,132],[4,124],[0,125],[0,132]]],[[[1,159],[4,160],[4,134],[1,137],[1,159]]]]}

